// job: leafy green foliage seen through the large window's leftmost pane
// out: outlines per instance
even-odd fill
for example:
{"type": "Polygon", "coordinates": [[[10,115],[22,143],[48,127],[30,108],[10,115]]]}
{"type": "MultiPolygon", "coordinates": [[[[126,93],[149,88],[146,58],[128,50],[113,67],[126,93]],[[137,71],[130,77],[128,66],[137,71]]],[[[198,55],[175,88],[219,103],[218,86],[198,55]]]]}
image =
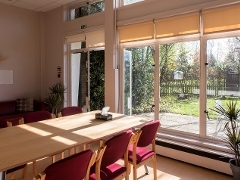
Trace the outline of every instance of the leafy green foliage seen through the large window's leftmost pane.
{"type": "MultiPolygon", "coordinates": [[[[125,102],[129,88],[132,88],[133,113],[146,111],[154,97],[154,47],[128,48],[132,61],[132,87],[130,84],[130,64],[125,60],[125,102]]],[[[125,108],[126,110],[126,108],[125,108]]]]}

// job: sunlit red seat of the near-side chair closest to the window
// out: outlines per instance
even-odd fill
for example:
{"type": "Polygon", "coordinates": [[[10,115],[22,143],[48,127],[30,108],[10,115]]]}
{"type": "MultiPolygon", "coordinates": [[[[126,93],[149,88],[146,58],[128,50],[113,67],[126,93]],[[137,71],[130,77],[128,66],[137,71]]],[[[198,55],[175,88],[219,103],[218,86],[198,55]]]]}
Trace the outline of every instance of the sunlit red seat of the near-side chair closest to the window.
{"type": "MultiPolygon", "coordinates": [[[[154,151],[149,150],[145,147],[137,147],[136,148],[136,163],[139,164],[142,161],[145,161],[146,159],[152,157],[154,155],[154,151]]],[[[130,162],[133,162],[133,145],[129,146],[128,150],[128,160],[130,162]]]]}

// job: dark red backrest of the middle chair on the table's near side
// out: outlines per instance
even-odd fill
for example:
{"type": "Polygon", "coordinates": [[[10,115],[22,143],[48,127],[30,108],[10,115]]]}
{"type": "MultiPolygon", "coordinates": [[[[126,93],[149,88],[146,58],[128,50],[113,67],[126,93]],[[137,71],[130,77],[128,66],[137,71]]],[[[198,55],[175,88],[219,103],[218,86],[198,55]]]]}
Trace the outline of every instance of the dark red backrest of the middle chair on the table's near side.
{"type": "Polygon", "coordinates": [[[113,136],[105,142],[106,149],[102,157],[101,167],[106,167],[123,158],[128,149],[132,131],[128,130],[113,136]]]}

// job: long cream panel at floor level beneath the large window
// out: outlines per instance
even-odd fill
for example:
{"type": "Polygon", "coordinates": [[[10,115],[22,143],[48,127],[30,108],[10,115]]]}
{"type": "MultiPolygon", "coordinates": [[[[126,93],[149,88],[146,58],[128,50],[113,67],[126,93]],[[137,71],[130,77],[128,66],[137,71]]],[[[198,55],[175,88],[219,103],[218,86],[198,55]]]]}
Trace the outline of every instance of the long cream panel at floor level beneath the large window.
{"type": "Polygon", "coordinates": [[[186,153],[176,149],[156,145],[156,153],[165,157],[183,161],[196,166],[204,167],[221,173],[232,175],[230,165],[227,162],[222,162],[210,159],[196,154],[186,153]]]}

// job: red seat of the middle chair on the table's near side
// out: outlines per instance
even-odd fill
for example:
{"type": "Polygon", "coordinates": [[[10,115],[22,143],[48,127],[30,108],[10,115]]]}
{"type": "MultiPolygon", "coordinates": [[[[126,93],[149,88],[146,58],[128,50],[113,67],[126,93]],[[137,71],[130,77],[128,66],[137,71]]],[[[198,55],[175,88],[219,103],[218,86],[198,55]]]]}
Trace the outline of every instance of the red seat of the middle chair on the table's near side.
{"type": "MultiPolygon", "coordinates": [[[[91,168],[90,180],[96,179],[94,167],[91,168]]],[[[100,171],[101,180],[110,180],[118,177],[120,174],[126,172],[126,167],[123,167],[117,163],[113,163],[107,167],[104,167],[100,171]]]]}

